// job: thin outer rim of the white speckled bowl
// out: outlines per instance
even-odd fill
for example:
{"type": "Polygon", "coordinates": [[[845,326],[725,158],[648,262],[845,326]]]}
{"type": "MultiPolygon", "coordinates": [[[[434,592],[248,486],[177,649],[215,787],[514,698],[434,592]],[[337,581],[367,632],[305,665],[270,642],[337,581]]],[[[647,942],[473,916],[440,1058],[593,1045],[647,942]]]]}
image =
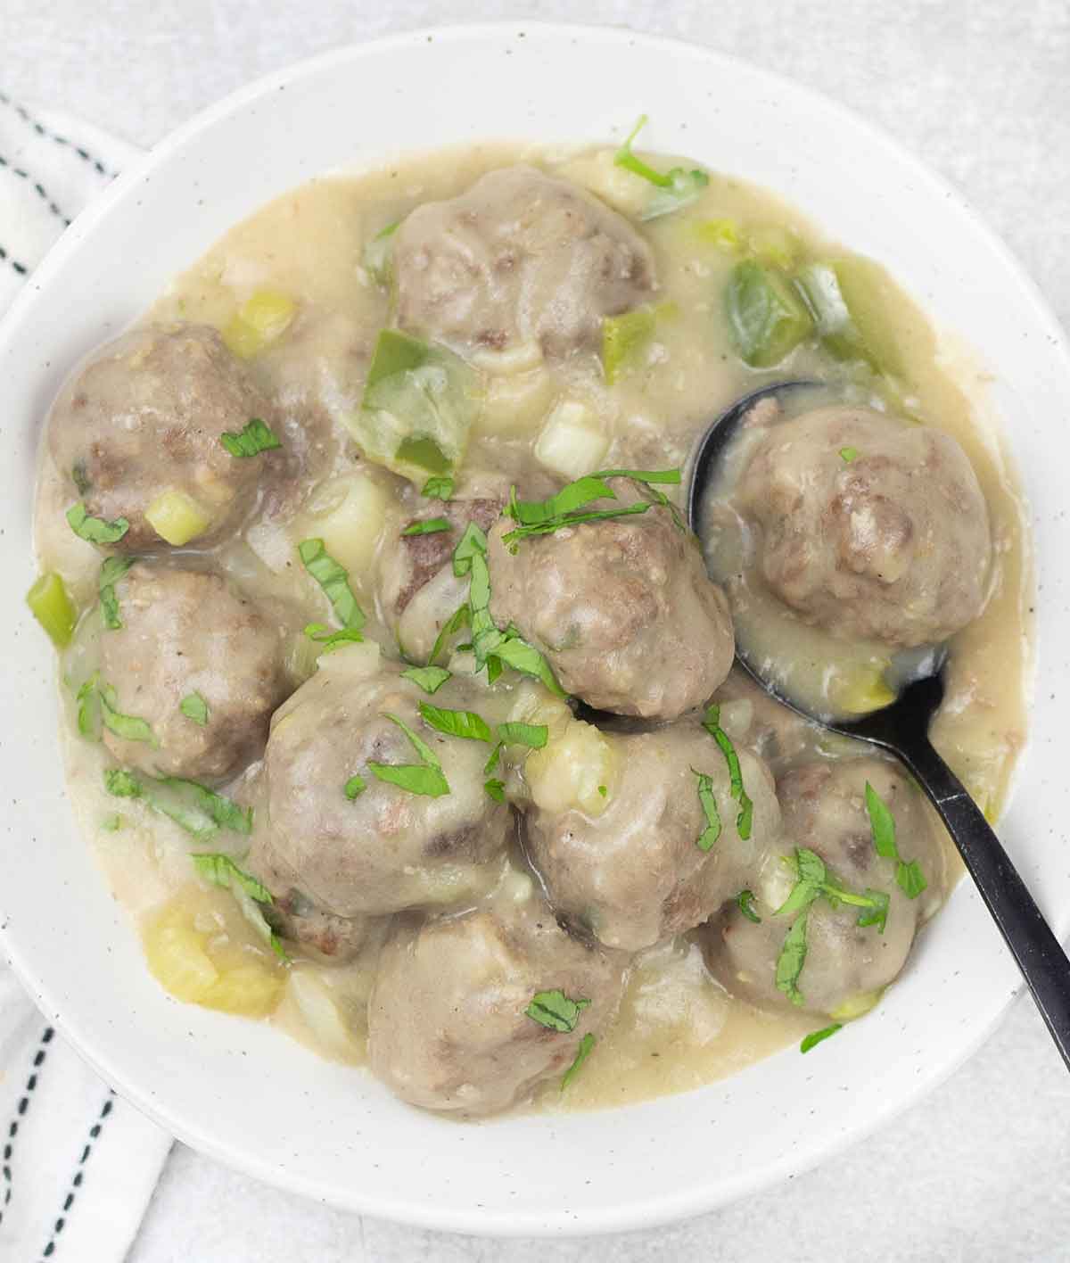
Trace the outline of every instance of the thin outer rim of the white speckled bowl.
{"type": "MultiPolygon", "coordinates": [[[[173,129],[167,136],[145,150],[133,160],[115,181],[96,197],[96,200],[82,211],[73,224],[63,232],[62,237],[48,253],[45,259],[34,270],[23,290],[16,296],[4,318],[0,320],[0,345],[4,344],[10,331],[21,321],[27,309],[35,302],[39,290],[47,288],[56,273],[58,273],[67,259],[75,255],[82,246],[87,232],[101,218],[106,217],[112,206],[120,202],[130,187],[138,184],[157,168],[164,165],[182,147],[192,138],[211,130],[221,120],[243,110],[280,87],[306,77],[315,77],[321,71],[346,62],[359,62],[366,57],[375,57],[387,49],[398,49],[407,45],[418,44],[426,40],[438,43],[466,42],[484,39],[486,37],[502,37],[509,32],[514,34],[537,33],[543,37],[566,37],[598,39],[609,44],[640,43],[647,47],[656,47],[666,52],[694,56],[696,52],[710,63],[721,66],[744,67],[747,73],[759,78],[767,87],[774,91],[787,91],[793,97],[810,100],[830,115],[839,116],[849,123],[855,134],[868,135],[879,141],[883,147],[898,154],[905,160],[917,179],[927,186],[929,192],[949,202],[959,215],[970,221],[978,236],[984,240],[987,248],[997,255],[1004,266],[1017,275],[1023,294],[1030,299],[1037,326],[1045,331],[1051,346],[1050,356],[1057,359],[1061,366],[1061,375],[1070,380],[1070,340],[1062,331],[1060,322],[1052,312],[1047,299],[1040,287],[1017,261],[1009,248],[987,225],[966,200],[942,176],[931,171],[922,159],[917,158],[910,149],[891,136],[878,125],[859,116],[853,110],[839,101],[827,97],[825,93],[806,85],[797,83],[774,71],[755,66],[745,58],[736,57],[720,49],[704,44],[677,39],[666,35],[653,35],[643,32],[633,32],[627,28],[609,28],[586,23],[560,23],[543,20],[499,20],[459,23],[448,25],[421,27],[413,30],[394,33],[376,39],[351,43],[339,48],[332,48],[310,58],[303,58],[282,69],[272,71],[259,76],[251,82],[230,92],[221,100],[200,110],[186,123],[173,129]]],[[[1036,659],[1033,661],[1036,671],[1036,659]]],[[[1018,769],[1025,762],[1025,753],[1018,759],[1018,769]]],[[[961,893],[961,892],[959,892],[961,893]]],[[[1070,904],[1060,909],[1064,930],[1070,923],[1070,904]]],[[[259,1153],[235,1148],[215,1135],[211,1128],[198,1125],[197,1122],[186,1115],[173,1113],[165,1103],[152,1094],[147,1082],[129,1079],[119,1067],[112,1065],[109,1057],[90,1046],[80,1032],[77,1017],[68,1018],[62,1007],[57,1004],[56,997],[42,984],[34,973],[33,962],[25,959],[18,942],[13,942],[8,935],[6,925],[0,923],[0,946],[8,956],[11,967],[27,990],[34,997],[38,1005],[48,1014],[49,1021],[58,1027],[61,1033],[76,1048],[78,1055],[97,1071],[115,1090],[128,1101],[133,1103],[145,1115],[159,1123],[178,1139],[189,1144],[200,1152],[207,1153],[227,1166],[245,1171],[256,1178],[275,1186],[283,1186],[313,1200],[328,1199],[346,1210],[360,1214],[373,1214],[385,1216],[397,1221],[414,1224],[431,1229],[447,1231],[462,1231],[478,1235],[491,1236],[522,1236],[522,1235],[589,1235],[610,1231],[623,1231],[638,1228],[649,1228],[668,1221],[690,1218],[712,1210],[720,1205],[733,1201],[749,1191],[767,1187],[788,1173],[810,1170],[826,1157],[843,1152],[848,1146],[854,1144],[878,1127],[902,1113],[908,1106],[916,1104],[923,1095],[936,1087],[949,1077],[968,1057],[970,1057],[992,1034],[1002,1022],[1012,1000],[1021,994],[1025,984],[1018,980],[1013,986],[1006,989],[998,1005],[993,1008],[987,1021],[978,1026],[971,1037],[958,1045],[951,1055],[942,1055],[936,1060],[936,1065],[925,1075],[918,1076],[918,1081],[912,1094],[879,1108],[869,1109],[860,1123],[853,1123],[838,1137],[822,1139],[821,1143],[810,1148],[793,1149],[783,1156],[778,1162],[763,1166],[759,1172],[742,1170],[734,1178],[723,1180],[716,1187],[695,1185],[687,1190],[670,1195],[652,1196],[647,1201],[633,1202],[605,1211],[585,1210],[580,1221],[571,1212],[553,1211],[544,1212],[538,1218],[531,1215],[510,1216],[503,1212],[488,1212],[474,1207],[455,1206],[443,1209],[435,1206],[424,1207],[416,1197],[398,1197],[393,1202],[383,1197],[374,1200],[363,1199],[359,1191],[351,1191],[344,1199],[334,1195],[334,1191],[325,1194],[322,1186],[315,1178],[306,1178],[292,1168],[286,1168],[284,1178],[280,1177],[279,1168],[273,1166],[259,1153]]],[[[651,1103],[657,1105],[658,1101],[651,1103]]]]}

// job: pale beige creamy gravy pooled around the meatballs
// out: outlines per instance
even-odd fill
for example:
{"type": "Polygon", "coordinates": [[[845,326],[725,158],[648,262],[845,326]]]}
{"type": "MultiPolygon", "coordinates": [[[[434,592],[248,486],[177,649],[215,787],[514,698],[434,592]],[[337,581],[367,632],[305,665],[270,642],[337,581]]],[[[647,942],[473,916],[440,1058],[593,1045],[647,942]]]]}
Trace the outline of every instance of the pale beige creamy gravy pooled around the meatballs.
{"type": "MultiPolygon", "coordinates": [[[[250,591],[293,601],[313,611],[310,618],[322,616],[317,613],[322,610],[320,594],[294,562],[294,547],[308,536],[325,533],[325,518],[345,499],[345,480],[359,469],[370,488],[368,494],[380,501],[383,525],[379,538],[351,541],[345,562],[354,592],[369,613],[366,634],[388,652],[393,634],[376,604],[371,576],[383,539],[408,520],[411,509],[406,513],[397,503],[400,480],[363,465],[342,424],[342,417],[359,405],[376,333],[390,314],[385,294],[363,266],[361,253],[376,232],[414,206],[454,196],[484,172],[517,160],[587,184],[624,213],[638,208],[635,197],[642,189],[613,167],[606,152],[474,147],[358,177],[315,179],[232,229],[173,282],[145,317],[222,328],[236,308],[260,290],[278,290],[296,302],[292,326],[251,365],[282,400],[287,434],[304,445],[311,481],[297,489],[289,503],[272,506],[241,537],[217,548],[215,563],[250,591]]],[[[552,369],[495,364],[486,405],[457,479],[460,493],[478,490],[481,480],[496,474],[514,477],[537,466],[533,451],[539,431],[565,397],[586,404],[598,418],[601,443],[592,467],[664,469],[686,465],[697,434],[728,403],[783,376],[783,365],[748,369],[726,340],[721,294],[738,256],[704,230],[711,220],[787,234],[800,250],[814,255],[830,250],[810,224],[778,200],[711,174],[709,187],[692,206],[642,226],[654,250],[659,279],[656,335],[642,366],[610,389],[594,355],[577,355],[552,369]]],[[[992,592],[982,618],[951,644],[949,696],[934,739],[994,817],[1026,731],[1032,577],[1022,503],[998,436],[983,418],[983,375],[946,351],[887,278],[882,303],[906,366],[910,408],[964,446],[992,515],[997,547],[992,592]]],[[[833,380],[838,369],[822,352],[800,349],[791,375],[811,373],[833,380]]],[[[843,390],[872,397],[864,383],[840,378],[843,390]]],[[[37,517],[40,562],[43,568],[58,571],[86,606],[96,591],[100,554],[68,529],[63,510],[69,503],[69,488],[45,455],[37,517]]],[[[294,649],[297,655],[299,652],[294,649]]],[[[69,654],[63,669],[73,678],[69,654]]],[[[312,664],[306,663],[303,673],[311,671],[312,664]]],[[[739,682],[734,691],[742,700],[730,705],[760,705],[739,682]]],[[[191,882],[187,835],[140,803],[117,802],[104,792],[106,754],[100,745],[78,738],[73,698],[68,688],[62,692],[71,799],[115,897],[143,919],[169,898],[202,899],[206,914],[215,909],[226,921],[225,932],[250,954],[259,952],[251,931],[240,919],[227,919],[222,911],[226,897],[191,882]],[[121,817],[120,827],[114,829],[116,816],[121,817]]],[[[748,716],[736,715],[744,741],[748,716]]],[[[825,755],[836,751],[835,739],[815,730],[806,730],[801,740],[800,749],[825,755]]],[[[244,787],[255,797],[256,774],[254,765],[227,792],[240,798],[244,787]]],[[[508,861],[488,898],[508,897],[510,889],[522,889],[529,880],[519,860],[508,861]]],[[[374,952],[373,941],[354,965],[301,960],[288,981],[282,978],[283,999],[270,1021],[322,1056],[360,1063],[366,1031],[363,1004],[374,952]]],[[[561,1108],[562,1100],[567,1108],[591,1108],[686,1090],[734,1074],[797,1041],[814,1026],[812,1017],[762,1013],[728,995],[706,971],[699,949],[683,936],[640,954],[598,1053],[567,1096],[548,1085],[538,1099],[548,1108],[561,1108]]]]}

